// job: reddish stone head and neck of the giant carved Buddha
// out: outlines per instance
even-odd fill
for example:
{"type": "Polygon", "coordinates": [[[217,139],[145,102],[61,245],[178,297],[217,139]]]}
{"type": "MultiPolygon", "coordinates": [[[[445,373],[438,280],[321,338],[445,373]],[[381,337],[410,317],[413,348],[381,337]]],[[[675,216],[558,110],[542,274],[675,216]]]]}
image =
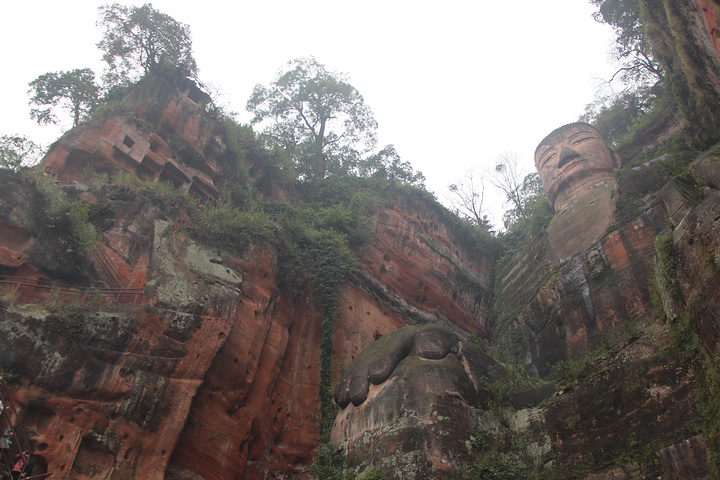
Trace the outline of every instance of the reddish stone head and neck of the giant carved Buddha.
{"type": "Polygon", "coordinates": [[[562,260],[588,248],[612,223],[617,190],[612,171],[620,167],[620,157],[591,125],[571,123],[540,142],[535,166],[557,212],[548,239],[562,260]]]}

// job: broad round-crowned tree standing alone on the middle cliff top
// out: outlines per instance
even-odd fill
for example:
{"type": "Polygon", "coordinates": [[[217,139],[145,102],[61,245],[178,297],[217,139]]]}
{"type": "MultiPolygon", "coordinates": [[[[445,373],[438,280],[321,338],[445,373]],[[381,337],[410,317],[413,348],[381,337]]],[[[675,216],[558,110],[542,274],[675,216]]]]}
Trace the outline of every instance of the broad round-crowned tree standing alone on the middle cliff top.
{"type": "Polygon", "coordinates": [[[255,86],[247,103],[253,124],[272,121],[266,133],[290,152],[301,177],[347,173],[375,146],[370,108],[343,75],[314,58],[292,60],[288,67],[268,87],[255,86]]]}

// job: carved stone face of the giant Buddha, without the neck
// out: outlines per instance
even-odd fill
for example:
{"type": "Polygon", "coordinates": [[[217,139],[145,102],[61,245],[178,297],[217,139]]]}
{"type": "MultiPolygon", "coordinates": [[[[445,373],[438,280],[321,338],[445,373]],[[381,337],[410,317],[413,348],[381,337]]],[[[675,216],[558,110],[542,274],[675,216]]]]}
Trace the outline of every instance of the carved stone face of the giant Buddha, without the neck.
{"type": "Polygon", "coordinates": [[[613,180],[620,159],[597,130],[586,123],[560,127],[540,142],[535,166],[555,211],[585,194],[593,185],[613,180]]]}

